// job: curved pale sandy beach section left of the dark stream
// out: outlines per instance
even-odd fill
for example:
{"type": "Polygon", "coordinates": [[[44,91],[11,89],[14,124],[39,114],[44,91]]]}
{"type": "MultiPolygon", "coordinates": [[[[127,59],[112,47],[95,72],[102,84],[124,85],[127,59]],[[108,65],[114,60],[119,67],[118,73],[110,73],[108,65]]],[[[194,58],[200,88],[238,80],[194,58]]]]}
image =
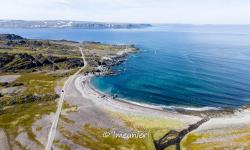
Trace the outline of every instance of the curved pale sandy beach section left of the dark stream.
{"type": "Polygon", "coordinates": [[[158,107],[146,107],[121,100],[114,100],[111,96],[104,95],[97,91],[90,83],[93,76],[78,77],[75,85],[82,96],[91,99],[99,108],[109,111],[120,112],[124,114],[144,115],[148,117],[162,117],[166,119],[176,119],[183,121],[185,124],[194,123],[200,120],[197,116],[188,116],[177,112],[168,112],[158,107]]]}

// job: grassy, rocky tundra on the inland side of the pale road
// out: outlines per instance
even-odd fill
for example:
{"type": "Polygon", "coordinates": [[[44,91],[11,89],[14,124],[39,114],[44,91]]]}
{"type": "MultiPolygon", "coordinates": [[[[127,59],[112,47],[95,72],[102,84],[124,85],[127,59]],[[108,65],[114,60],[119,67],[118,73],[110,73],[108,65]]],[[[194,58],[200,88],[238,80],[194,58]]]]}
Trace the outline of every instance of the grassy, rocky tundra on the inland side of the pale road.
{"type": "Polygon", "coordinates": [[[47,131],[42,124],[34,124],[56,111],[64,81],[84,65],[78,47],[84,49],[89,62],[84,72],[89,72],[103,63],[102,56],[114,55],[128,46],[0,35],[0,138],[6,139],[0,145],[7,145],[7,149],[44,149],[45,140],[39,138],[47,138],[53,118],[47,120],[47,131]]]}

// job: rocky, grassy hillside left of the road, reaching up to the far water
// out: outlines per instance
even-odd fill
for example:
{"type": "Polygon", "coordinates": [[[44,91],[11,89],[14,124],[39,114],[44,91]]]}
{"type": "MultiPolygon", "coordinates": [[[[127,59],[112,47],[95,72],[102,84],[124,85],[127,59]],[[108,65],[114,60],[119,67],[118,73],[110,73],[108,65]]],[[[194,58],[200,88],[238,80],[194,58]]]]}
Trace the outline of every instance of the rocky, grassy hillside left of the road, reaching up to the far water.
{"type": "Polygon", "coordinates": [[[28,40],[17,35],[0,35],[0,71],[59,70],[83,65],[73,46],[63,42],[28,40]]]}

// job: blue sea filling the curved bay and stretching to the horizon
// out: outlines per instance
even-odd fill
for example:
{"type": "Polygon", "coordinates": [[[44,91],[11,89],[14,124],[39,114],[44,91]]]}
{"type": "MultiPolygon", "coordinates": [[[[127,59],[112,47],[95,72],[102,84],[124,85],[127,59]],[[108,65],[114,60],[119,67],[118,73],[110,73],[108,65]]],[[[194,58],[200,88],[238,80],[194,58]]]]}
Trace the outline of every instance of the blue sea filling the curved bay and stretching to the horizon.
{"type": "Polygon", "coordinates": [[[145,29],[0,29],[26,38],[135,44],[140,50],[114,76],[95,77],[100,91],[164,107],[250,104],[250,26],[155,26],[145,29]]]}

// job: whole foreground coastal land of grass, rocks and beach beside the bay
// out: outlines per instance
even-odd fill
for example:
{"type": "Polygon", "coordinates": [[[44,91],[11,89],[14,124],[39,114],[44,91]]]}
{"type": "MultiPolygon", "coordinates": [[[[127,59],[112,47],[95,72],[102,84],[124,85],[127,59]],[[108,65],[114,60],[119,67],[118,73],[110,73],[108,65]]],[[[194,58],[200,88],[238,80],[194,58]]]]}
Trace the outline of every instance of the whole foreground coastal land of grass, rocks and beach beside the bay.
{"type": "MultiPolygon", "coordinates": [[[[231,136],[236,140],[248,136],[250,111],[247,107],[166,109],[122,100],[96,89],[91,84],[92,78],[116,75],[117,72],[112,70],[112,67],[121,65],[129,55],[140,51],[135,45],[32,40],[9,34],[0,37],[1,57],[5,60],[0,76],[1,91],[8,91],[1,96],[1,104],[4,106],[0,111],[0,120],[5,122],[0,123],[0,138],[4,139],[1,143],[4,147],[18,147],[16,142],[19,142],[22,146],[43,149],[48,143],[47,137],[54,120],[58,120],[58,127],[53,127],[56,131],[55,137],[50,140],[53,149],[63,146],[79,149],[96,147],[95,140],[91,139],[92,136],[98,139],[99,144],[101,143],[98,145],[99,148],[118,142],[121,144],[118,146],[138,149],[156,148],[159,146],[158,140],[168,133],[176,136],[174,145],[189,149],[207,147],[207,142],[213,142],[213,138],[223,141],[225,135],[221,131],[227,132],[228,139],[232,139],[231,136]],[[83,60],[79,57],[79,49],[84,56],[83,60]],[[18,63],[15,60],[18,60],[18,63]],[[41,62],[44,62],[43,65],[41,62]],[[84,68],[79,70],[83,66],[84,68]],[[69,79],[70,82],[67,82],[69,79]],[[36,82],[40,83],[40,89],[36,88],[36,82]],[[28,95],[20,95],[16,87],[28,95]],[[59,97],[64,99],[64,102],[60,116],[57,114],[59,118],[55,119],[54,112],[59,97]],[[32,108],[28,111],[30,114],[23,112],[22,108],[27,106],[32,108]],[[45,110],[36,108],[40,106],[44,106],[45,110]],[[24,115],[6,120],[15,107],[20,107],[15,111],[24,115]],[[38,110],[41,112],[37,112],[38,110]],[[32,121],[27,124],[23,116],[29,117],[32,121]],[[16,119],[21,120],[21,124],[16,123],[16,119]],[[23,122],[25,128],[16,130],[16,126],[23,128],[23,122]],[[15,124],[14,134],[13,124],[15,124]],[[108,137],[106,134],[102,137],[107,132],[108,137]],[[117,138],[111,132],[142,132],[148,136],[143,139],[117,138]],[[34,139],[31,139],[32,137],[34,139]],[[193,137],[201,138],[194,140],[193,137]],[[84,143],[82,141],[85,141],[85,138],[91,140],[84,143]],[[106,138],[111,141],[106,141],[106,138]],[[40,144],[34,144],[34,141],[39,141],[40,144]],[[33,144],[29,145],[29,142],[33,144]]],[[[235,145],[238,146],[237,144],[241,145],[241,143],[235,145]]],[[[216,146],[220,148],[227,145],[221,142],[216,146]]]]}

